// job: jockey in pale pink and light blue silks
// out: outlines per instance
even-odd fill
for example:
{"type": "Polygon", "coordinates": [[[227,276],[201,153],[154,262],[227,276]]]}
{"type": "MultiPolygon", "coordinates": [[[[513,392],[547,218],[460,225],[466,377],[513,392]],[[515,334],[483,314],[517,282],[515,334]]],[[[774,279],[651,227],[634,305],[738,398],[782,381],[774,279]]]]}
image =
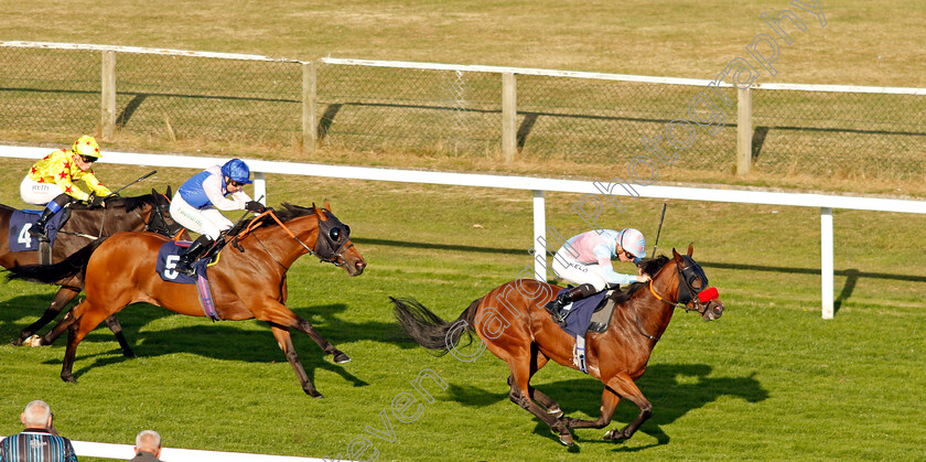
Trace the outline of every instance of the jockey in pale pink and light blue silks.
{"type": "Polygon", "coordinates": [[[559,278],[575,287],[560,292],[547,304],[547,311],[553,320],[562,323],[573,301],[601,292],[611,284],[648,281],[649,276],[639,269],[645,256],[646,239],[634,228],[590,230],[572,237],[553,256],[552,268],[559,278]],[[614,258],[633,262],[637,266],[637,273],[614,271],[611,265],[614,258]]]}

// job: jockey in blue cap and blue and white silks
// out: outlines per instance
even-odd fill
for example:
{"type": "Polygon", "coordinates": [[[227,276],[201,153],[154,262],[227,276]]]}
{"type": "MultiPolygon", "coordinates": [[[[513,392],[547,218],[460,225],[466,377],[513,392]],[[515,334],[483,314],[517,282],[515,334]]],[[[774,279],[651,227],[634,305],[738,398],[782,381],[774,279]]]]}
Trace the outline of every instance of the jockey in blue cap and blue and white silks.
{"type": "Polygon", "coordinates": [[[219,211],[262,213],[266,207],[244,191],[250,184],[250,169],[240,159],[213,165],[186,180],[171,201],[171,217],[201,236],[181,254],[175,270],[194,276],[193,261],[209,248],[223,230],[234,226],[219,211]],[[226,197],[228,196],[228,197],[226,197]]]}

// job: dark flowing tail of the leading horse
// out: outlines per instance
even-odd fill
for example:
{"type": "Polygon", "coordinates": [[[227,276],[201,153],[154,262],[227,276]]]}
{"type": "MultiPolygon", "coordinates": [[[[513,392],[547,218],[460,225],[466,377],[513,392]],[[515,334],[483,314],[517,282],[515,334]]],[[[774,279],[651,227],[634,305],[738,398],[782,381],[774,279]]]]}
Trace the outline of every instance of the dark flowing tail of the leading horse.
{"type": "Polygon", "coordinates": [[[392,297],[389,297],[389,300],[395,305],[392,312],[402,330],[414,340],[414,343],[426,348],[440,351],[443,355],[460,342],[464,333],[470,342],[473,340],[473,318],[476,315],[476,308],[482,299],[471,303],[453,322],[442,320],[418,300],[392,297]]]}

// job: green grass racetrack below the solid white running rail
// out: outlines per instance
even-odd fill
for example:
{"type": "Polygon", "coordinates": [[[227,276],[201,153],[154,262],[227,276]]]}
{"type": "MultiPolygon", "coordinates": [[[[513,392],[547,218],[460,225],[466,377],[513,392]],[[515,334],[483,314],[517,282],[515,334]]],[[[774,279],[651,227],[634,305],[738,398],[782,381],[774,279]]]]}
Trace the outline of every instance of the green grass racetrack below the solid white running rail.
{"type": "MultiPolygon", "coordinates": [[[[10,160],[0,198],[17,194],[26,161],[10,160]]],[[[107,184],[137,168],[100,166],[107,184]]],[[[163,190],[189,171],[164,169],[134,193],[163,190]]],[[[510,280],[526,265],[530,196],[496,190],[360,181],[269,178],[271,203],[329,198],[354,230],[369,262],[358,278],[313,258],[290,271],[288,305],[353,357],[335,365],[303,335],[297,351],[315,386],[299,388],[269,329],[255,321],[212,323],[139,304],[121,314],[137,359],[125,359],[98,329],[77,352],[78,384],[58,378],[62,342],[9,346],[32,322],[50,287],[0,284],[0,434],[19,431],[31,399],[49,401],[58,430],[76,440],[131,443],[154,428],[164,444],[219,451],[322,456],[344,453],[366,436],[379,460],[916,460],[926,456],[926,271],[918,215],[837,211],[836,319],[820,319],[819,216],[816,209],[672,202],[659,248],[685,248],[719,287],[728,311],[712,323],[679,312],[638,385],[654,416],[623,444],[603,430],[578,430],[561,447],[546,426],[507,400],[507,367],[485,354],[473,363],[434,357],[400,340],[388,296],[412,296],[445,319],[510,280]],[[481,227],[474,227],[474,225],[481,227]],[[891,229],[885,233],[884,229],[891,229]],[[399,422],[392,399],[432,369],[448,384],[431,387],[418,420],[399,422]],[[386,409],[395,441],[383,428],[386,409]],[[526,454],[529,454],[526,455],[526,454]]],[[[564,236],[583,230],[571,214],[579,200],[548,194],[548,219],[564,236]]],[[[614,226],[636,226],[653,239],[656,201],[606,213],[614,226]]],[[[623,268],[627,270],[628,268],[623,268]]],[[[534,385],[570,416],[596,417],[602,385],[550,365],[534,385]]],[[[613,427],[629,422],[622,402],[613,427]]]]}

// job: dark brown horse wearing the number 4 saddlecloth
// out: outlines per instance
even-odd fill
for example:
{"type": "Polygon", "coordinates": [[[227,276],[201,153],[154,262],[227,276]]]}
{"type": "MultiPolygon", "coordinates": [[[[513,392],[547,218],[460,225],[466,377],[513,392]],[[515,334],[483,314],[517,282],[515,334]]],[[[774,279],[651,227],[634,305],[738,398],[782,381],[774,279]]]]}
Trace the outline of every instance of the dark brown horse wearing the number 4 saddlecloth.
{"type": "MultiPolygon", "coordinates": [[[[79,203],[69,206],[71,218],[58,230],[52,248],[52,262],[64,260],[95,239],[105,238],[119,232],[154,232],[165,236],[175,236],[183,232],[183,227],[170,218],[170,186],[166,194],[151,190],[151,194],[121,197],[114,196],[106,200],[106,207],[88,207],[79,203]]],[[[37,265],[39,251],[10,251],[10,217],[15,208],[0,204],[0,266],[10,269],[22,265],[37,265]]],[[[67,304],[80,293],[80,284],[75,278],[63,278],[53,281],[61,286],[52,303],[42,318],[20,332],[13,345],[22,343],[36,331],[54,320],[67,304]]],[[[106,320],[107,325],[116,334],[119,346],[126,356],[133,356],[128,342],[122,335],[122,327],[116,316],[106,320]]],[[[47,336],[44,344],[51,344],[57,335],[47,336]]]]}

